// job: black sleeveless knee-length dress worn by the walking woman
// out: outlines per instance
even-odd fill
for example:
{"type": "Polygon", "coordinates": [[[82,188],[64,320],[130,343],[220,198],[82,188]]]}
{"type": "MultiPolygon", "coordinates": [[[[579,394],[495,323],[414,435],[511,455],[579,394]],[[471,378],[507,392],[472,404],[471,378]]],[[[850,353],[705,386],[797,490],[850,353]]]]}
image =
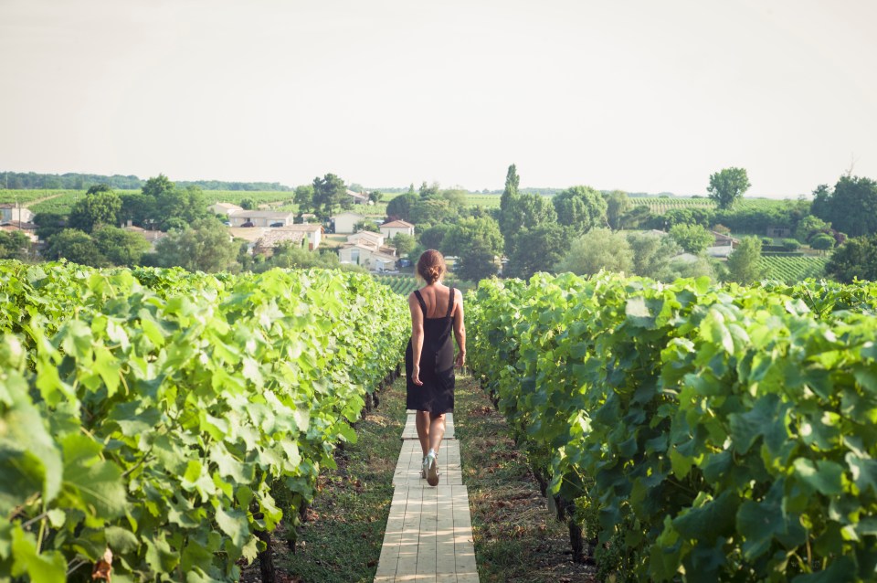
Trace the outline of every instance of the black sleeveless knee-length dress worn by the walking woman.
{"type": "Polygon", "coordinates": [[[419,290],[415,290],[417,302],[423,312],[423,350],[420,353],[421,386],[411,380],[414,367],[414,351],[411,340],[405,351],[405,378],[407,382],[407,408],[429,411],[441,415],[454,410],[454,341],[451,337],[454,319],[454,288],[450,288],[448,313],[439,318],[427,317],[427,304],[419,290]]]}

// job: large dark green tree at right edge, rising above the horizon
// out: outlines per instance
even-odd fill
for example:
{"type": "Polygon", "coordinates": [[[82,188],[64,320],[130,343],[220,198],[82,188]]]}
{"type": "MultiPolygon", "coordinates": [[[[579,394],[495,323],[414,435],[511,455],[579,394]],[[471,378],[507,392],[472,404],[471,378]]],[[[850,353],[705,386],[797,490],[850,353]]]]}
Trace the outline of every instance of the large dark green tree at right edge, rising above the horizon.
{"type": "Polygon", "coordinates": [[[813,192],[811,212],[850,237],[877,233],[877,182],[841,176],[833,191],[820,185],[813,192]]]}

